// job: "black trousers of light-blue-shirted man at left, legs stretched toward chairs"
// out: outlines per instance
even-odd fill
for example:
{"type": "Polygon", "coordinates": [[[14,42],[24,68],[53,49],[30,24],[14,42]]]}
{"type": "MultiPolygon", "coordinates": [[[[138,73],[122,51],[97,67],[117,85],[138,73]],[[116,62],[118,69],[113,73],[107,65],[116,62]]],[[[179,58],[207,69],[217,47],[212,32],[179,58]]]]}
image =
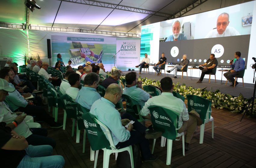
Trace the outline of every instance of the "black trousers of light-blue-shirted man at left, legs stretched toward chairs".
{"type": "Polygon", "coordinates": [[[36,116],[37,121],[44,121],[48,123],[50,126],[55,123],[54,118],[49,116],[48,113],[45,112],[42,106],[32,106],[27,105],[26,107],[20,107],[16,111],[21,111],[31,116],[36,116]]]}

